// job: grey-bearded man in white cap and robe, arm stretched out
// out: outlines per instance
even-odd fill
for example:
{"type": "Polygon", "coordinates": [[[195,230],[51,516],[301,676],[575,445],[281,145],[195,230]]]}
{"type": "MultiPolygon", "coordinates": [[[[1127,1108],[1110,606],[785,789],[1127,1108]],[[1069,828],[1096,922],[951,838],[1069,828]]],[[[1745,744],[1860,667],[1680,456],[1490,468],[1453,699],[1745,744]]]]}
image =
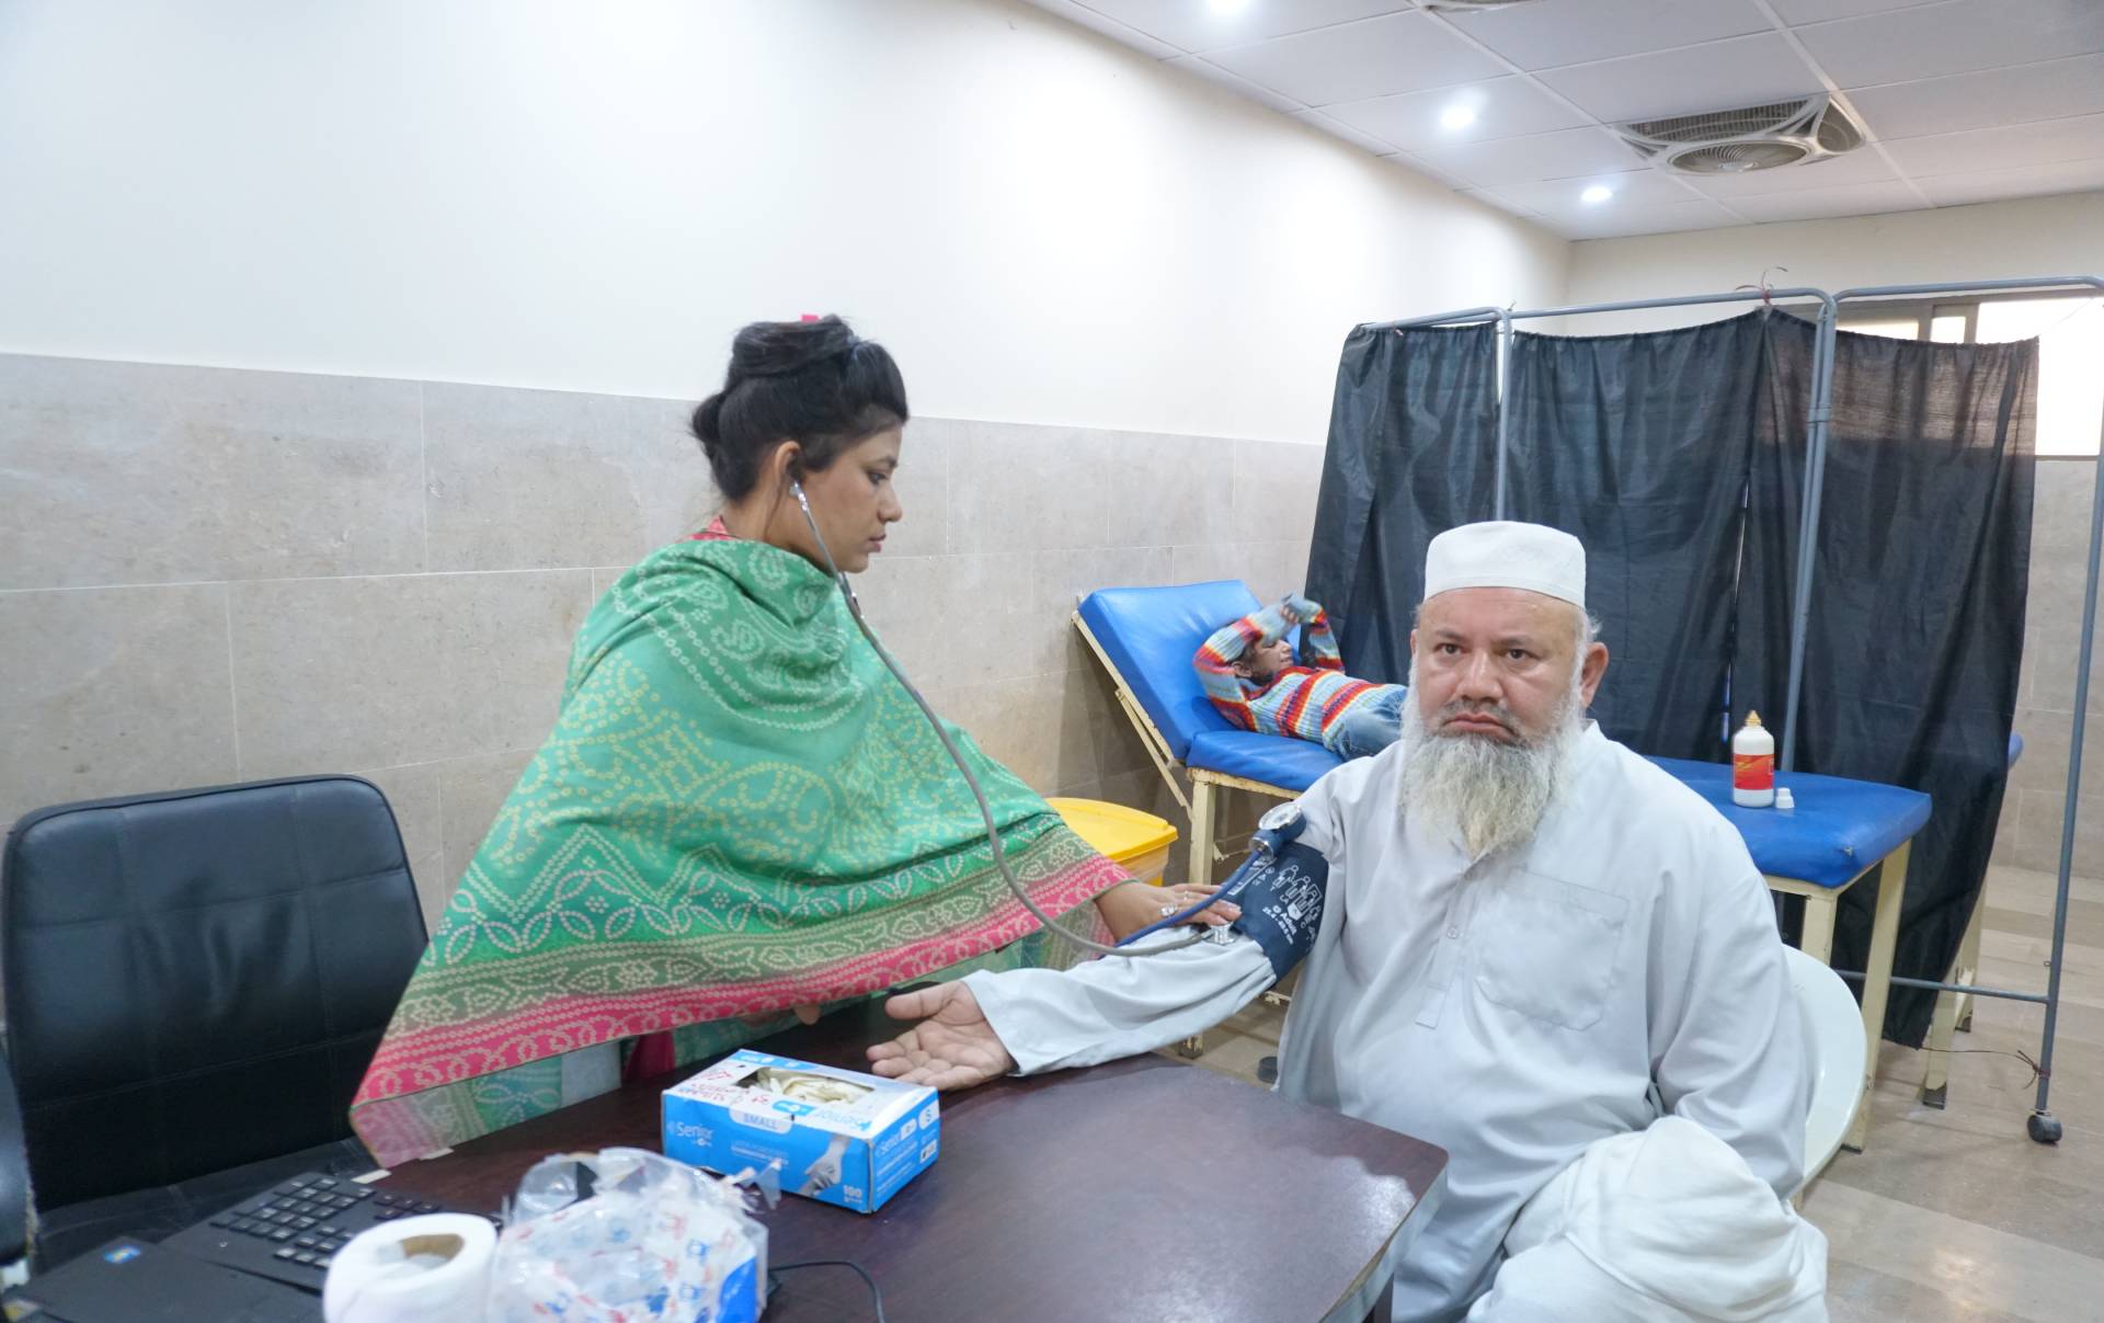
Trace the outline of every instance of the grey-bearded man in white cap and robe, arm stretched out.
{"type": "MultiPolygon", "coordinates": [[[[1570,534],[1433,538],[1401,738],[1298,801],[1330,875],[1277,1087],[1448,1151],[1395,1319],[1824,1319],[1774,907],[1732,825],[1584,717],[1595,633],[1570,534]]],[[[926,1020],[869,1056],[936,1087],[1094,1064],[1275,963],[1239,936],[972,974],[894,997],[926,1020]]]]}

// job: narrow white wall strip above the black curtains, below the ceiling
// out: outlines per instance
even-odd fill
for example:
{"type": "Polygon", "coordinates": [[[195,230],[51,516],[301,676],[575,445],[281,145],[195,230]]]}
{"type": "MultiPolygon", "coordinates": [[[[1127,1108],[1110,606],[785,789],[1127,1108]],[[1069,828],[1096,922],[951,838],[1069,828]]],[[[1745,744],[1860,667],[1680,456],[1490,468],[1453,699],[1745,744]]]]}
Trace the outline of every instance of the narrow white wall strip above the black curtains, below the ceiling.
{"type": "MultiPolygon", "coordinates": [[[[2066,194],[2018,202],[1982,202],[1938,210],[1734,225],[1631,240],[1572,244],[1572,303],[1662,299],[1757,284],[1769,271],[1778,286],[1843,290],[1931,280],[2003,280],[2018,276],[2104,273],[2104,194],[2066,194]]],[[[1607,334],[1706,313],[1599,313],[1570,320],[1576,334],[1607,334]]]]}

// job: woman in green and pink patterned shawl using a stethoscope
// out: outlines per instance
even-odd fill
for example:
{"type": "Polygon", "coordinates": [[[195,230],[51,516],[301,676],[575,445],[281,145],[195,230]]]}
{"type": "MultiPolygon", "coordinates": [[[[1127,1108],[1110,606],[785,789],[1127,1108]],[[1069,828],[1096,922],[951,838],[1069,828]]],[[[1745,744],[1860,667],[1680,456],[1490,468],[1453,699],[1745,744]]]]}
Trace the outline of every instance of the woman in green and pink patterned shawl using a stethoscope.
{"type": "MultiPolygon", "coordinates": [[[[978,808],[856,631],[831,559],[903,517],[892,358],[837,318],[739,332],[694,435],[726,505],[591,610],[555,730],[499,810],[351,1104],[398,1163],[720,1056],[823,1003],[974,968],[1067,965],[995,869],[978,808]]],[[[1094,938],[1201,898],[1132,883],[957,747],[1010,871],[1094,938]]],[[[1233,919],[1231,907],[1206,919],[1233,919]]]]}

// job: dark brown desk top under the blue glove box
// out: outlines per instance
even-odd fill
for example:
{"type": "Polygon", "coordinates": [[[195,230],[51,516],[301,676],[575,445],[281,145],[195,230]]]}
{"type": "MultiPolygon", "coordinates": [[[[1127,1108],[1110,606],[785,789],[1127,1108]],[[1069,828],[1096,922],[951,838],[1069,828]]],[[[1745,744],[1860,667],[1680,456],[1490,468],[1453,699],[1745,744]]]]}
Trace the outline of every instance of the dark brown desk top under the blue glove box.
{"type": "MultiPolygon", "coordinates": [[[[861,1068],[863,1047],[892,1033],[869,1003],[755,1047],[861,1068]]],[[[690,1073],[408,1163],[385,1184],[494,1209],[549,1153],[659,1148],[659,1094],[690,1073]]],[[[785,1195],[764,1222],[772,1262],[856,1260],[901,1323],[1357,1323],[1437,1203],[1445,1161],[1393,1129],[1138,1056],[945,1094],[943,1155],[884,1209],[785,1195]]],[[[842,1268],[785,1275],[766,1315],[863,1319],[869,1289],[842,1268]]]]}

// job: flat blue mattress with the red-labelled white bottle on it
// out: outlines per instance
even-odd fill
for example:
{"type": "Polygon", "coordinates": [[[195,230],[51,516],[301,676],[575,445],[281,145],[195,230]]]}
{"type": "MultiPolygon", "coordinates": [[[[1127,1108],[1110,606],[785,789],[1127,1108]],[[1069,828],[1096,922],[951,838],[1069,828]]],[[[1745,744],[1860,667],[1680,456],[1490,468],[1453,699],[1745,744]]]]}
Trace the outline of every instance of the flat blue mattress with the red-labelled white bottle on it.
{"type": "Polygon", "coordinates": [[[1812,886],[1839,888],[1900,848],[1929,820],[1929,797],[1894,785],[1782,772],[1797,808],[1738,808],[1732,803],[1732,768],[1681,757],[1654,757],[1687,789],[1738,827],[1761,873],[1812,886]]]}

